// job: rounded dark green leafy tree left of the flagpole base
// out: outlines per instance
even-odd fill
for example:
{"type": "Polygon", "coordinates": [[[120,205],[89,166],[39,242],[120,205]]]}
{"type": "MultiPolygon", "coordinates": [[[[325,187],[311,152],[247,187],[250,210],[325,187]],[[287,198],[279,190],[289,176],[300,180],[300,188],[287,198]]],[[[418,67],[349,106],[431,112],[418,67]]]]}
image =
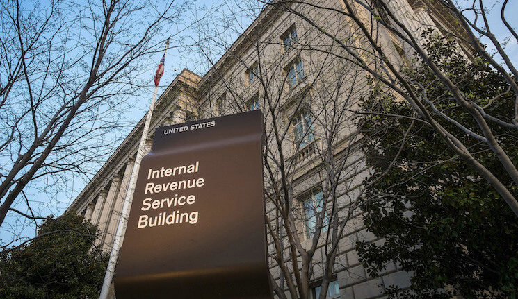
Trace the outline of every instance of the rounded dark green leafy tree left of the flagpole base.
{"type": "Polygon", "coordinates": [[[42,222],[31,244],[0,255],[0,298],[97,298],[108,257],[97,227],[74,212],[42,222]]]}

